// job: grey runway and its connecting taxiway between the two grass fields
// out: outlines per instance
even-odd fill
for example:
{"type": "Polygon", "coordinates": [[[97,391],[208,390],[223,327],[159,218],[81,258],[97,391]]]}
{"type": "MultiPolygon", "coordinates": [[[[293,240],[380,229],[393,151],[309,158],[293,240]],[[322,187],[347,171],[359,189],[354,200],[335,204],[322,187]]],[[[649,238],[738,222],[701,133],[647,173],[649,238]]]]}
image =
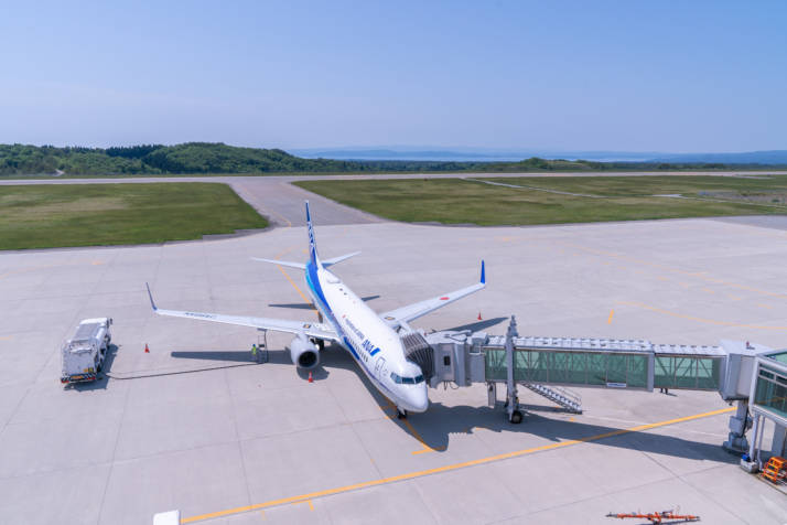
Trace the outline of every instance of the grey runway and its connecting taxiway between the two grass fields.
{"type": "MultiPolygon", "coordinates": [[[[768,173],[787,174],[787,171],[768,173]]],[[[115,183],[150,183],[150,182],[224,182],[229,184],[244,200],[259,213],[267,216],[278,226],[303,226],[303,201],[309,199],[314,203],[314,219],[319,224],[367,224],[380,223],[385,219],[375,215],[345,206],[315,193],[308,192],[291,184],[304,180],[358,180],[358,179],[455,179],[455,178],[517,178],[517,176],[654,176],[654,175],[715,175],[741,176],[762,175],[757,171],[729,172],[618,172],[618,173],[397,173],[397,174],[343,174],[343,175],[227,175],[227,176],[127,176],[107,179],[18,179],[3,180],[0,184],[115,184],[115,183]]]]}

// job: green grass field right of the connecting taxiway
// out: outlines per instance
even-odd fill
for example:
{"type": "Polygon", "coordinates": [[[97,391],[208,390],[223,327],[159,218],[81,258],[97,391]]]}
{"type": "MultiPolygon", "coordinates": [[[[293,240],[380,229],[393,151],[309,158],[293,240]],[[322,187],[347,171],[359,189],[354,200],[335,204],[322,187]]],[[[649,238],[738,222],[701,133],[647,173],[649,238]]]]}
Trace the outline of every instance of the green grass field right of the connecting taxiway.
{"type": "Polygon", "coordinates": [[[787,175],[483,179],[520,188],[479,181],[482,179],[359,180],[295,184],[343,204],[405,222],[516,225],[787,214],[787,175]]]}

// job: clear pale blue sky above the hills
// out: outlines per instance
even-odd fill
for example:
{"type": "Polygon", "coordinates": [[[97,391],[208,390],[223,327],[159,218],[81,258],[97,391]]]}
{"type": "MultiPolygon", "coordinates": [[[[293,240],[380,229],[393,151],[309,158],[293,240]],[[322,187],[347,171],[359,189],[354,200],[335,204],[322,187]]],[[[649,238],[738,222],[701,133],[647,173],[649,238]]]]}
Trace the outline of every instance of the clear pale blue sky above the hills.
{"type": "Polygon", "coordinates": [[[781,1],[14,2],[0,143],[787,149],[781,1]]]}

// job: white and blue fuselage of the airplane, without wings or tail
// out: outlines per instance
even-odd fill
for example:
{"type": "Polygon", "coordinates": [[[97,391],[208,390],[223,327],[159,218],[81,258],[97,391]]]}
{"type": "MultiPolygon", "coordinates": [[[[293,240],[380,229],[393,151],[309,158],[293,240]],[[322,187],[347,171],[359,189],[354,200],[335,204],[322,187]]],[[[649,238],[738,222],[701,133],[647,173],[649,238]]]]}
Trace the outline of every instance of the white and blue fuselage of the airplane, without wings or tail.
{"type": "Polygon", "coordinates": [[[322,265],[309,262],[305,279],[314,304],[371,384],[399,409],[425,411],[429,397],[423,375],[405,357],[394,329],[322,265]]]}

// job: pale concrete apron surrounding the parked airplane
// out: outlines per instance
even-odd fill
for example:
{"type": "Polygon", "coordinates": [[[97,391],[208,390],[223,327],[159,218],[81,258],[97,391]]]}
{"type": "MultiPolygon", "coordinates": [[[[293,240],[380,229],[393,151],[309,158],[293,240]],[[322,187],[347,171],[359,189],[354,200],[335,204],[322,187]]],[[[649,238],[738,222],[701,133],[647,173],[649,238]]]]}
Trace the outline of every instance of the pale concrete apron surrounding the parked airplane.
{"type": "MultiPolygon", "coordinates": [[[[287,335],[256,364],[251,329],[151,312],[145,281],[162,308],[315,319],[297,270],[250,260],[305,258],[299,192],[281,227],[248,236],[0,255],[0,523],[142,524],[177,508],[211,524],[601,524],[678,506],[704,523],[787,522],[787,497],[721,449],[730,407],[715,393],[576,389],[576,416],[522,389],[514,426],[484,385],[440,387],[398,420],[338,347],[309,383],[287,335]],[[64,388],[61,341],[105,315],[106,376],[64,388]]],[[[335,271],[378,311],[467,286],[486,260],[486,290],[418,328],[504,333],[516,314],[522,335],[787,346],[787,232],[770,225],[448,228],[310,199],[321,255],[363,250],[335,271]]]]}

